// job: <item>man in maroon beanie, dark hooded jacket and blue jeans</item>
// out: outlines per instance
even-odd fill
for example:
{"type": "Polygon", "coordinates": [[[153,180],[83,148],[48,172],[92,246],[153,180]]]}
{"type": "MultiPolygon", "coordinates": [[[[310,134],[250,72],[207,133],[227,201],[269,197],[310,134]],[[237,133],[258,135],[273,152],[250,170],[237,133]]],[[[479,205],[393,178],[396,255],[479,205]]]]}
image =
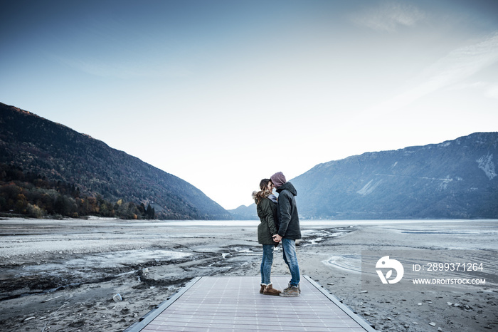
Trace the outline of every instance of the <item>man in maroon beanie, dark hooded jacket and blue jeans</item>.
{"type": "Polygon", "coordinates": [[[270,179],[278,192],[278,211],[280,211],[280,227],[273,239],[275,242],[282,242],[284,261],[289,266],[291,276],[289,286],[280,293],[280,296],[299,296],[300,271],[297,264],[296,240],[301,239],[301,229],[295,199],[297,190],[292,183],[285,180],[282,172],[275,173],[270,179]]]}

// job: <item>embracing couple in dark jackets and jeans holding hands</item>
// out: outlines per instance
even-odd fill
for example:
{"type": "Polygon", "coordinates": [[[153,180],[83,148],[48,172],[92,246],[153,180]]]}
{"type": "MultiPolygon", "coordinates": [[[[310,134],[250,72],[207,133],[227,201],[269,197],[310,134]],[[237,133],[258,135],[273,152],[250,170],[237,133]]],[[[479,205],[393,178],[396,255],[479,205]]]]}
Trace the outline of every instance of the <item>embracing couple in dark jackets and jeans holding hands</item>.
{"type": "Polygon", "coordinates": [[[297,191],[292,183],[285,180],[282,172],[277,172],[270,179],[260,182],[260,191],[253,192],[260,224],[258,225],[258,242],[263,244],[261,261],[261,289],[265,295],[300,296],[301,289],[299,264],[296,256],[296,240],[301,239],[299,217],[297,215],[297,191]],[[272,194],[273,188],[278,192],[278,199],[272,194]],[[290,284],[279,291],[273,289],[270,280],[273,263],[273,249],[282,242],[284,261],[290,269],[290,284]]]}

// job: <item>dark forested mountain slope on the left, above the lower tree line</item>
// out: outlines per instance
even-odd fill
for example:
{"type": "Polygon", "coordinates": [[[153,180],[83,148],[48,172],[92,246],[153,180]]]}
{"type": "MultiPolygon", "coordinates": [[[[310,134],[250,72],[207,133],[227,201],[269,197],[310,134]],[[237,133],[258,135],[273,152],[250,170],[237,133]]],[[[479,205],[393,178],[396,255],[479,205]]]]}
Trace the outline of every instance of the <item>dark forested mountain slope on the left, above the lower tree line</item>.
{"type": "MultiPolygon", "coordinates": [[[[115,209],[122,207],[122,202],[141,205],[142,209],[150,206],[161,219],[231,219],[223,207],[179,177],[100,140],[3,103],[0,103],[0,166],[0,180],[2,177],[9,180],[16,170],[22,172],[25,191],[33,188],[33,184],[26,185],[26,179],[43,182],[46,191],[43,193],[49,196],[53,190],[60,194],[61,188],[66,188],[73,195],[68,204],[80,204],[76,198],[97,197],[105,199],[107,205],[113,204],[115,209]]],[[[16,188],[5,187],[3,194],[19,190],[21,185],[17,183],[22,181],[16,179],[16,188]]],[[[26,192],[21,194],[25,206],[35,205],[28,202],[26,192]]],[[[9,199],[16,197],[4,197],[0,209],[2,202],[9,204],[9,199]]]]}

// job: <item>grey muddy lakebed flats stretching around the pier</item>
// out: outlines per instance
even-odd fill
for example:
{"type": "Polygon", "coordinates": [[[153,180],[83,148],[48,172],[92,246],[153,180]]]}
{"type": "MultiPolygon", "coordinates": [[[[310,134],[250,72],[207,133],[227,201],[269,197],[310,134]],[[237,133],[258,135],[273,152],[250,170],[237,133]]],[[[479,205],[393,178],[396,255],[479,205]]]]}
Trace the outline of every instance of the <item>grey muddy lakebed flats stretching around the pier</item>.
{"type": "MultiPolygon", "coordinates": [[[[258,276],[257,224],[0,219],[1,330],[123,331],[196,276],[258,276]]],[[[498,329],[496,220],[302,222],[302,232],[301,273],[378,331],[498,329]],[[362,284],[362,251],[420,249],[468,251],[486,284],[362,284]]],[[[290,278],[281,257],[278,247],[272,274],[290,278]]]]}

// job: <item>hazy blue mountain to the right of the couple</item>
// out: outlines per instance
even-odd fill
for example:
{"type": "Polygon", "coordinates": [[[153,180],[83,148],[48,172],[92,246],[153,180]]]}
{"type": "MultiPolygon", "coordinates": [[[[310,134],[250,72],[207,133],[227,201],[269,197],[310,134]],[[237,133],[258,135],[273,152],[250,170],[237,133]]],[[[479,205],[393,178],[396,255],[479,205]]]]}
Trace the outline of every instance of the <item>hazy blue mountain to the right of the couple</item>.
{"type": "Polygon", "coordinates": [[[369,152],[290,180],[303,219],[498,218],[498,133],[369,152]]]}

